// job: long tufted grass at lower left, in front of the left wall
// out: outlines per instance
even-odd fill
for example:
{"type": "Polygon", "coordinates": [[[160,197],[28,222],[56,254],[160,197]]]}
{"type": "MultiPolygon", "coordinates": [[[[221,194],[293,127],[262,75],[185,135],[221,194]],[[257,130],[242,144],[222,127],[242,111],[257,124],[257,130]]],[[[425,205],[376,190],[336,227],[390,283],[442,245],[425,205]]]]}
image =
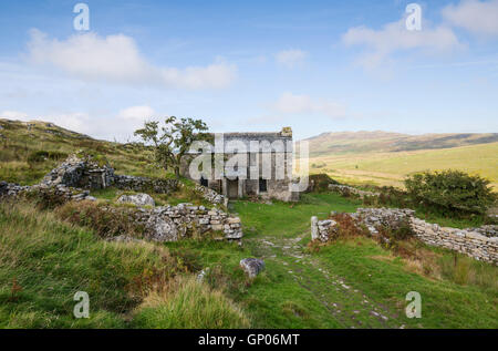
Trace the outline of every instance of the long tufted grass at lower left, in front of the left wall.
{"type": "MultiPolygon", "coordinates": [[[[172,327],[184,326],[186,316],[191,328],[208,320],[210,327],[246,326],[220,291],[170,286],[178,275],[191,276],[194,266],[184,252],[172,255],[162,245],[107,242],[30,205],[0,204],[0,328],[160,328],[159,317],[157,324],[138,320],[154,313],[147,303],[165,290],[176,298],[167,314],[172,327]],[[73,317],[76,291],[90,296],[89,319],[73,317]],[[189,299],[181,308],[184,296],[189,299]],[[201,309],[207,302],[218,304],[201,309]]],[[[169,303],[158,301],[154,314],[166,316],[169,303]]]]}

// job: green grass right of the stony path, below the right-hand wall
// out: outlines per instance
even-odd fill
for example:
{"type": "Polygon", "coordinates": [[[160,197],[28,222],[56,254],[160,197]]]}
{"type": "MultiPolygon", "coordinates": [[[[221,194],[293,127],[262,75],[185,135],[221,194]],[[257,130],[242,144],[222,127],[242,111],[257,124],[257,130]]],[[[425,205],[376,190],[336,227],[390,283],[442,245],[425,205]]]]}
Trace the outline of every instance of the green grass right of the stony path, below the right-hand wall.
{"type": "MultiPolygon", "coordinates": [[[[317,256],[333,271],[340,273],[356,289],[383,301],[400,321],[422,328],[498,328],[498,289],[461,286],[452,281],[434,281],[406,271],[401,260],[375,259],[385,250],[369,239],[338,242],[322,248],[317,256]],[[361,246],[355,245],[362,242],[361,246]],[[418,291],[423,300],[423,318],[407,319],[403,313],[408,291],[418,291]]],[[[488,266],[497,279],[496,267],[488,266]]]]}

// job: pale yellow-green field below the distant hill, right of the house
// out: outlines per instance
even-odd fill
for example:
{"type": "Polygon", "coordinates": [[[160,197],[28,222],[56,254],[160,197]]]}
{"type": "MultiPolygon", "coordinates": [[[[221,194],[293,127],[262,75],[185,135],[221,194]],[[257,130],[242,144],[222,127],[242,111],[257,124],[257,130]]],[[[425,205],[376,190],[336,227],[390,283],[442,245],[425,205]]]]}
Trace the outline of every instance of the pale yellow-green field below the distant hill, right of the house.
{"type": "Polygon", "coordinates": [[[488,178],[498,188],[498,143],[413,152],[336,154],[310,158],[311,173],[351,184],[402,186],[421,171],[460,169],[488,178]]]}

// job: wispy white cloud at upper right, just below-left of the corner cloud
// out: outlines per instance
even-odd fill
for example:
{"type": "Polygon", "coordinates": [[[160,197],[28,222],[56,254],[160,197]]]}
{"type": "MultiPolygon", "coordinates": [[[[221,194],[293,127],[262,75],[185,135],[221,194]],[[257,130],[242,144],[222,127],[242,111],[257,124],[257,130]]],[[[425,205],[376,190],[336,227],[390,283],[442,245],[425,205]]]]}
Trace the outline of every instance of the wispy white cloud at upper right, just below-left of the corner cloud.
{"type": "Polygon", "coordinates": [[[426,52],[450,52],[461,48],[458,38],[446,27],[427,28],[423,23],[422,31],[408,31],[405,20],[385,24],[381,30],[366,27],[355,27],[342,35],[342,42],[347,45],[361,45],[369,49],[360,59],[360,63],[372,69],[390,60],[396,52],[423,50],[426,52]]]}

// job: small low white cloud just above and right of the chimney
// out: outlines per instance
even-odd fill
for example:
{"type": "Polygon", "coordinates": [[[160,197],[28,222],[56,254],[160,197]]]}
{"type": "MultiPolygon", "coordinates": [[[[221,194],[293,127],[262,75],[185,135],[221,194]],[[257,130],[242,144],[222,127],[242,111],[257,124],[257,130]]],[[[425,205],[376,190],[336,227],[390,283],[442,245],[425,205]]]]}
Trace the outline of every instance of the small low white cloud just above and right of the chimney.
{"type": "Polygon", "coordinates": [[[286,92],[273,104],[273,109],[284,114],[324,114],[332,118],[346,115],[345,106],[329,100],[313,100],[309,95],[295,95],[286,92]]]}

